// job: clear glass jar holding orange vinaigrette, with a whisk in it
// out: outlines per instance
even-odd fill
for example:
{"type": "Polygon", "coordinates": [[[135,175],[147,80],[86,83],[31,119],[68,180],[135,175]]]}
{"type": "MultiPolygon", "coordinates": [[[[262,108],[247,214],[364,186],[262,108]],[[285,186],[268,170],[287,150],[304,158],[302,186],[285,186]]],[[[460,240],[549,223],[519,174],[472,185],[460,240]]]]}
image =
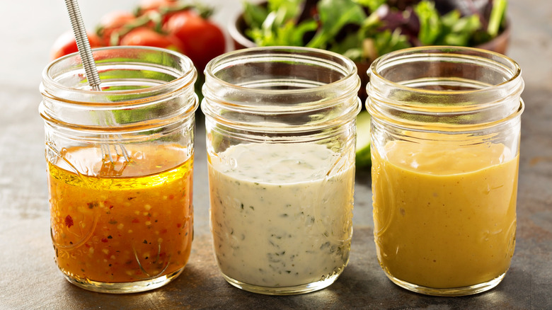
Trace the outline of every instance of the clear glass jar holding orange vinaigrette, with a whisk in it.
{"type": "Polygon", "coordinates": [[[155,289],[190,256],[197,72],[154,47],[93,55],[102,91],[88,86],[77,54],[42,74],[55,259],[84,289],[155,289]]]}

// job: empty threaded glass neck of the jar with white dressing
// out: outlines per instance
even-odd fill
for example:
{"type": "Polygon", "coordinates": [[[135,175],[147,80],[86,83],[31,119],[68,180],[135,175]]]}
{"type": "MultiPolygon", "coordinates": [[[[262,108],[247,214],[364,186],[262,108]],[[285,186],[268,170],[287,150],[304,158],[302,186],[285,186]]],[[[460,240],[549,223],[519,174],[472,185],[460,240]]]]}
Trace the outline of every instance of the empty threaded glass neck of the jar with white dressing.
{"type": "Polygon", "coordinates": [[[309,132],[352,120],[362,107],[351,59],[311,47],[250,47],[205,67],[202,110],[235,129],[309,132]]]}

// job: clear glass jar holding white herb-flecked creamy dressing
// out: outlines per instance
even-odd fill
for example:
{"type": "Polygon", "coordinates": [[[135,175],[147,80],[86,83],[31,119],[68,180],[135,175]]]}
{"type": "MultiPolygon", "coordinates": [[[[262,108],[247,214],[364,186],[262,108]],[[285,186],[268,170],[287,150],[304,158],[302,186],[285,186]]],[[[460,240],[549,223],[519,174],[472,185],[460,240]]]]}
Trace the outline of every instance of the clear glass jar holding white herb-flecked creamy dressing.
{"type": "Polygon", "coordinates": [[[207,65],[214,255],[231,284],[301,294],[349,260],[355,183],[355,64],[332,52],[255,47],[207,65]]]}

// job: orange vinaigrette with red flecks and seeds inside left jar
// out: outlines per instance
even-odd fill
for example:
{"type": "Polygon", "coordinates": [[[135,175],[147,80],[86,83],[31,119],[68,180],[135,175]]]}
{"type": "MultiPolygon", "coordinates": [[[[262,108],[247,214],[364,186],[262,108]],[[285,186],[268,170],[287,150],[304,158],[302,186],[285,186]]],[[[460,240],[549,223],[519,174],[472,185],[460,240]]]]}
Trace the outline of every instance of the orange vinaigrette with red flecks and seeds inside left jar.
{"type": "MultiPolygon", "coordinates": [[[[94,150],[73,148],[64,156],[82,151],[94,150]]],[[[151,280],[179,272],[188,261],[192,157],[182,163],[183,152],[170,145],[149,147],[147,156],[129,151],[132,161],[115,177],[104,176],[102,163],[94,168],[98,176],[83,176],[59,168],[62,161],[48,162],[52,241],[68,277],[151,280]]]]}

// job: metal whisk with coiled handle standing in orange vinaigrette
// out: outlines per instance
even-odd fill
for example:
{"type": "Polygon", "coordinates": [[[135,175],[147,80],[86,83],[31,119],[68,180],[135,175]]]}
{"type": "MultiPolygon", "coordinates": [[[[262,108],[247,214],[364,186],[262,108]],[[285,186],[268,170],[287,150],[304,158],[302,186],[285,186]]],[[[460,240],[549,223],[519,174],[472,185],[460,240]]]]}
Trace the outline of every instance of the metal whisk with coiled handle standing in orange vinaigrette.
{"type": "MultiPolygon", "coordinates": [[[[79,54],[81,55],[84,73],[86,74],[88,85],[90,85],[94,91],[101,91],[100,76],[98,74],[98,69],[96,69],[96,62],[94,62],[90,42],[88,42],[88,35],[86,34],[86,28],[84,27],[81,11],[79,10],[79,4],[77,4],[76,0],[65,0],[65,5],[67,6],[67,11],[69,12],[71,28],[73,28],[73,33],[76,40],[76,47],[78,47],[79,54]]],[[[108,115],[106,115],[106,117],[102,120],[102,122],[104,122],[104,125],[114,124],[115,117],[113,117],[113,114],[106,114],[108,115]]],[[[108,135],[102,135],[102,137],[106,140],[110,139],[108,135]]],[[[120,135],[118,137],[120,137],[120,135]]],[[[109,144],[101,144],[101,150],[103,158],[105,159],[107,157],[110,163],[113,163],[113,155],[111,154],[109,144]]],[[[125,149],[125,147],[120,143],[115,144],[115,154],[117,154],[117,156],[123,156],[125,162],[130,161],[130,156],[127,149],[125,149]],[[119,154],[119,151],[121,152],[121,154],[119,154]]]]}

